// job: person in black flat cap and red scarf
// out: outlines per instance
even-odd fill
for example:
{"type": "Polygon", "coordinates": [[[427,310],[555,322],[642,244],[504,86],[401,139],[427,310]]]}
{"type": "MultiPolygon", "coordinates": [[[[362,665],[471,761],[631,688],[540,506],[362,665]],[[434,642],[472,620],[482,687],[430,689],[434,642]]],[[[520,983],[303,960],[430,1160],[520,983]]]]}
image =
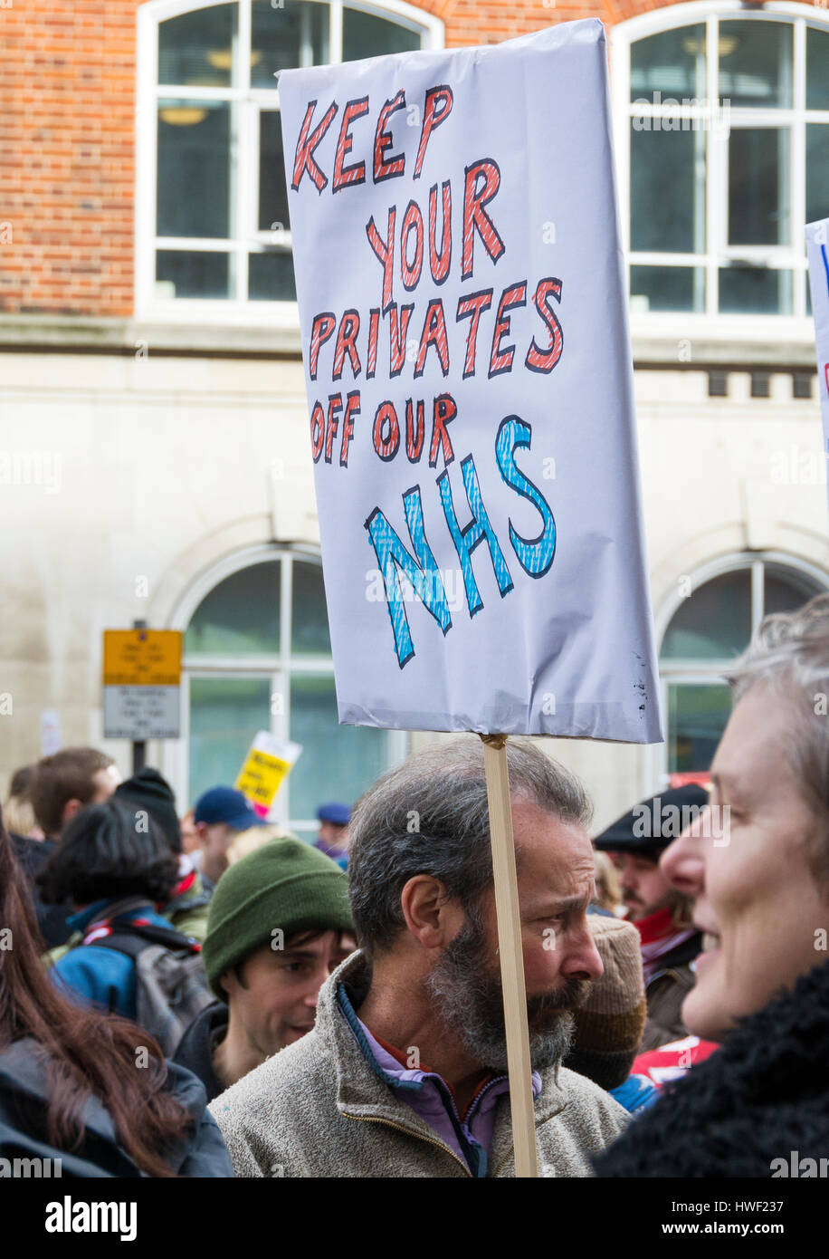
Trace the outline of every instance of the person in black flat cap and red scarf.
{"type": "Polygon", "coordinates": [[[596,851],[616,862],[626,920],[639,932],[648,1000],[642,1051],[687,1035],[681,1008],[693,987],[702,935],[691,923],[689,899],[670,886],[659,857],[707,803],[702,787],[677,787],[634,806],[594,840],[596,851]]]}

